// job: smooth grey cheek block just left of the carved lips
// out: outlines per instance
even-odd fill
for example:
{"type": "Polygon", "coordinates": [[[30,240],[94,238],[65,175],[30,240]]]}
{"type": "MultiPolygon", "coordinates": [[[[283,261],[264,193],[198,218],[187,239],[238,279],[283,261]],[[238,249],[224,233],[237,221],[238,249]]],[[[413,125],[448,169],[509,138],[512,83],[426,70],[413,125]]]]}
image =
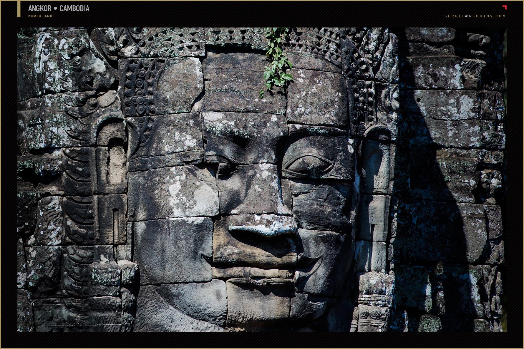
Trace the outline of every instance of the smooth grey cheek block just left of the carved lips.
{"type": "Polygon", "coordinates": [[[211,218],[159,219],[133,224],[134,262],[141,284],[211,280],[211,218]]]}

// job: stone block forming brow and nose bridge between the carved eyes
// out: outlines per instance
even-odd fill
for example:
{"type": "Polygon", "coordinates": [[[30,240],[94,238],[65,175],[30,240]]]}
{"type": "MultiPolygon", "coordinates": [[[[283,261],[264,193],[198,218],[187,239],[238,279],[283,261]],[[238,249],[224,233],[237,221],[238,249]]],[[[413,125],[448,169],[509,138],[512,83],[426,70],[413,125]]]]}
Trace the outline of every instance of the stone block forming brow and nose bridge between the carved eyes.
{"type": "Polygon", "coordinates": [[[277,164],[288,128],[275,114],[203,112],[206,162],[277,164]]]}

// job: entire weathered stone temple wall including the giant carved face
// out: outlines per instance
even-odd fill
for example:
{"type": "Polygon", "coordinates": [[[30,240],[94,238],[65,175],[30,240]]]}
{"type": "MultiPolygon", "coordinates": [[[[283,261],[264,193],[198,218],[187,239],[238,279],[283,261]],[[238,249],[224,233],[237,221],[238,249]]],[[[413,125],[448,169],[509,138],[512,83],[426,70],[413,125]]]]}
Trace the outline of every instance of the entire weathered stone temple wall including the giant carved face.
{"type": "Polygon", "coordinates": [[[18,35],[18,331],[501,331],[503,31],[18,35]]]}

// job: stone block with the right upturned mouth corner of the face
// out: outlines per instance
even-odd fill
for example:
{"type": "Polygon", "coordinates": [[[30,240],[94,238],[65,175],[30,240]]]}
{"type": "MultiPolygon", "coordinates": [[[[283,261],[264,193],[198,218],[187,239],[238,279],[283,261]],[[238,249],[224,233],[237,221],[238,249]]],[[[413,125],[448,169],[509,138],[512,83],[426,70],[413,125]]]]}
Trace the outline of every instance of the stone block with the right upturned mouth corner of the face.
{"type": "Polygon", "coordinates": [[[301,250],[294,276],[300,292],[337,297],[348,294],[347,273],[353,255],[351,235],[299,230],[301,250]]]}

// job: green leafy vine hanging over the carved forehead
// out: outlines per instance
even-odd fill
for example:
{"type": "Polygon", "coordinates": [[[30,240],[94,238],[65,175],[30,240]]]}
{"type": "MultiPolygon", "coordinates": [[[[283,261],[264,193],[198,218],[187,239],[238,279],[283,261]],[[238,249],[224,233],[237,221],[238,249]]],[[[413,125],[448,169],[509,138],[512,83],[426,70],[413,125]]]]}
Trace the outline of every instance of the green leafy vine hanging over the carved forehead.
{"type": "Polygon", "coordinates": [[[288,58],[282,54],[283,38],[288,34],[289,28],[264,28],[266,38],[269,40],[266,57],[271,64],[265,66],[264,87],[260,90],[260,98],[264,97],[266,91],[270,91],[273,86],[278,86],[280,90],[286,91],[289,82],[293,80],[293,75],[286,73],[293,67],[288,58]]]}

